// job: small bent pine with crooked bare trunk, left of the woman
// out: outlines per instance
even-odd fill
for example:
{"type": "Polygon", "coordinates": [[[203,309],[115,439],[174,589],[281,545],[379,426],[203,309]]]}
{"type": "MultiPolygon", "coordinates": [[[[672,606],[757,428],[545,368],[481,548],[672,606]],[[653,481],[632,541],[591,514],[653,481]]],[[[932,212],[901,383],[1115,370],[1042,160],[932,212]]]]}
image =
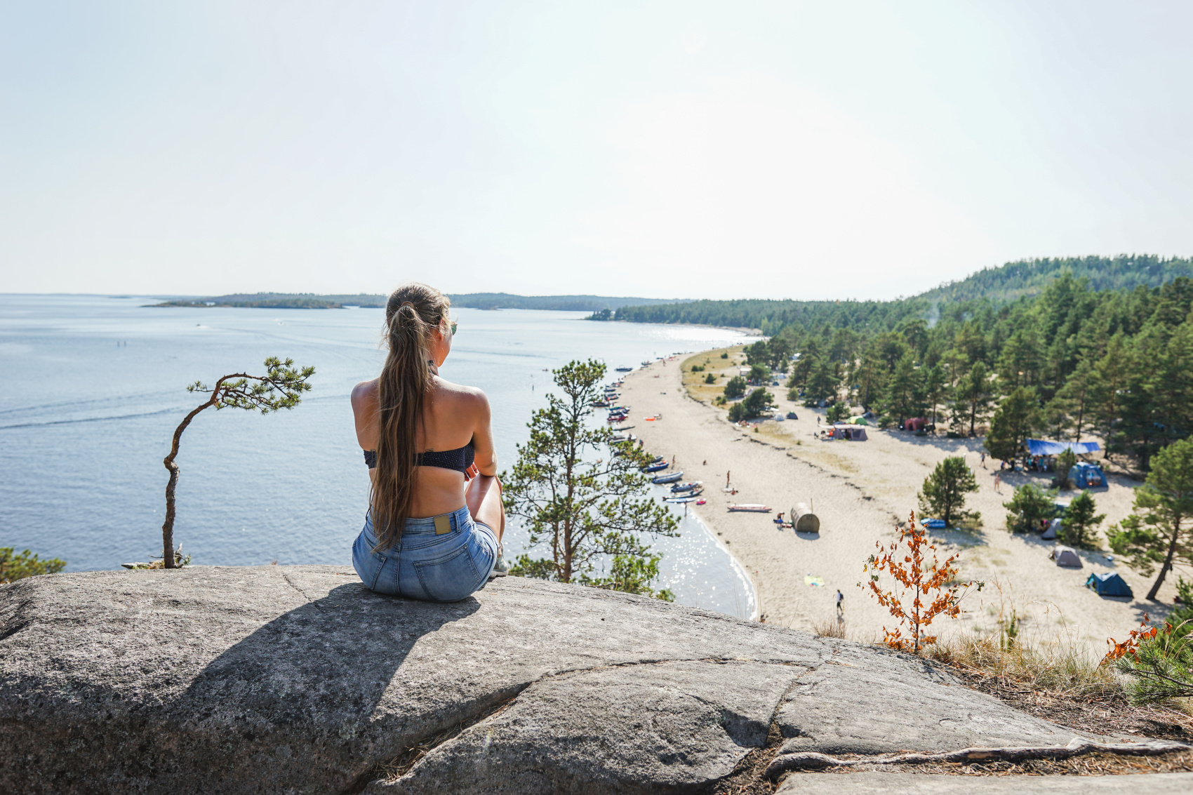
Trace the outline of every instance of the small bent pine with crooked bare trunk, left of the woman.
{"type": "Polygon", "coordinates": [[[178,562],[178,553],[174,549],[174,488],[178,486],[178,464],[174,463],[174,458],[178,457],[178,444],[186,426],[199,412],[212,406],[216,409],[243,408],[259,411],[262,414],[280,408],[293,408],[302,402],[302,393],[310,389],[307,380],[315,375],[315,368],[296,370],[293,359],[282,362],[277,357],[265,359],[265,369],[264,376],[233,372],[221,377],[214,387],[196,381],[186,388],[191,393],[210,393],[211,398],[183,418],[174,429],[169,454],[162,460],[166,470],[169,472],[169,481],[166,483],[166,520],[161,525],[162,565],[166,568],[177,568],[178,562]]]}

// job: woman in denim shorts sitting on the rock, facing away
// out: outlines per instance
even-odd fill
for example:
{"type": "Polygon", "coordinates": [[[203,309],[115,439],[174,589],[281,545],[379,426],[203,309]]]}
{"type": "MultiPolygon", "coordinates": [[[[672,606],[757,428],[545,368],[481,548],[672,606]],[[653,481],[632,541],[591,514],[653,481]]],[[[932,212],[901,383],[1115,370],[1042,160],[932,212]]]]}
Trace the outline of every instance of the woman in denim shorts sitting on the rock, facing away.
{"type": "Polygon", "coordinates": [[[372,591],[428,602],[458,602],[508,571],[489,401],[439,376],[456,334],[449,306],[426,284],[394,290],[385,364],[352,390],[372,481],[352,566],[372,591]]]}

